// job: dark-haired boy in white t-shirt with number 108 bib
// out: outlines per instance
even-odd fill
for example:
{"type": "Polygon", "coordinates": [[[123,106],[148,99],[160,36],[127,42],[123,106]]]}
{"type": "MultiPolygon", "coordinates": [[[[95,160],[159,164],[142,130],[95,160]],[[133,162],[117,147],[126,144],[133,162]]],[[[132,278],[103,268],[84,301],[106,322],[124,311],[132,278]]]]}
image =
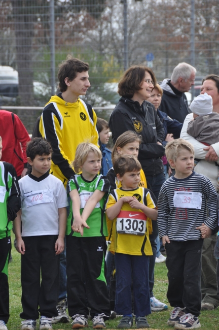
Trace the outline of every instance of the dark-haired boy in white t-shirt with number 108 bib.
{"type": "Polygon", "coordinates": [[[52,317],[58,315],[59,255],[68,203],[61,180],[49,174],[51,145],[34,138],[26,153],[32,171],[19,180],[21,210],[14,223],[16,249],[21,253],[21,330],[35,330],[39,312],[40,330],[46,330],[52,329],[52,317]]]}

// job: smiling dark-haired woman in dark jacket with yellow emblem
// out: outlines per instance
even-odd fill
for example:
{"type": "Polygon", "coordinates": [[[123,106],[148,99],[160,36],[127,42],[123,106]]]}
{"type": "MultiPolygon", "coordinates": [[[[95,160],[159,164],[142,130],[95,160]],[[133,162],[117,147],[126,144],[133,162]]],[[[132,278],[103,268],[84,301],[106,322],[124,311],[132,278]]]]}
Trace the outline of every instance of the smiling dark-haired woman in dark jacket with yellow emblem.
{"type": "MultiPolygon", "coordinates": [[[[133,65],[126,70],[119,82],[118,93],[122,96],[116,105],[109,128],[112,131],[113,142],[127,130],[133,130],[141,135],[138,160],[141,163],[149,188],[158,198],[160,188],[165,181],[164,167],[161,157],[165,148],[162,145],[164,137],[163,125],[155,107],[146,100],[156,85],[156,78],[150,68],[133,65]]],[[[167,305],[154,302],[154,266],[156,258],[156,242],[158,236],[157,222],[153,221],[153,234],[150,235],[153,256],[150,256],[149,286],[152,310],[167,309],[167,305]]]]}

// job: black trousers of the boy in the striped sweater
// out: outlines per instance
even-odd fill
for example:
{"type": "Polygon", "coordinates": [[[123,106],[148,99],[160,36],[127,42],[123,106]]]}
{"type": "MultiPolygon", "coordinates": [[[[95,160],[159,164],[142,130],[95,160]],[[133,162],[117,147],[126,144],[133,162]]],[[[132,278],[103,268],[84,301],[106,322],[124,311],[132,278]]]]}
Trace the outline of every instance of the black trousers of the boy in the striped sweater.
{"type": "Polygon", "coordinates": [[[203,240],[165,244],[168,269],[167,299],[172,307],[199,316],[201,310],[201,253],[203,240]]]}

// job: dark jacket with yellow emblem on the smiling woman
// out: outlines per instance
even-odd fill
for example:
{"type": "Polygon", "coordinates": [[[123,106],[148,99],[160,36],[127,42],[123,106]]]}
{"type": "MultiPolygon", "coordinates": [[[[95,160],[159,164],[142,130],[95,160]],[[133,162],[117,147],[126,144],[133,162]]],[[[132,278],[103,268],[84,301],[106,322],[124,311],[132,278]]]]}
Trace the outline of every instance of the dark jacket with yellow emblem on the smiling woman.
{"type": "Polygon", "coordinates": [[[109,128],[114,143],[127,130],[141,135],[138,160],[146,179],[147,175],[154,176],[163,172],[161,157],[165,148],[157,142],[162,143],[164,129],[155,107],[150,102],[144,101],[140,106],[136,101],[121,97],[109,119],[109,128]]]}

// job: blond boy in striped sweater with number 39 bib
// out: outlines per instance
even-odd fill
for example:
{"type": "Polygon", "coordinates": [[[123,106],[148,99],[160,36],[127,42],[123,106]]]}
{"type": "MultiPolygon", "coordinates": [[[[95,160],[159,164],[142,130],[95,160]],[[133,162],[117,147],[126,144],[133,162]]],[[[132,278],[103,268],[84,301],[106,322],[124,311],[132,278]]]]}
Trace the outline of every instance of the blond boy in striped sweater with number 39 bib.
{"type": "Polygon", "coordinates": [[[201,252],[203,239],[217,225],[217,193],[206,176],[193,171],[190,142],[169,142],[166,157],[175,170],[158,199],[158,228],[167,253],[167,298],[174,307],[167,324],[194,329],[201,327],[201,252]]]}

